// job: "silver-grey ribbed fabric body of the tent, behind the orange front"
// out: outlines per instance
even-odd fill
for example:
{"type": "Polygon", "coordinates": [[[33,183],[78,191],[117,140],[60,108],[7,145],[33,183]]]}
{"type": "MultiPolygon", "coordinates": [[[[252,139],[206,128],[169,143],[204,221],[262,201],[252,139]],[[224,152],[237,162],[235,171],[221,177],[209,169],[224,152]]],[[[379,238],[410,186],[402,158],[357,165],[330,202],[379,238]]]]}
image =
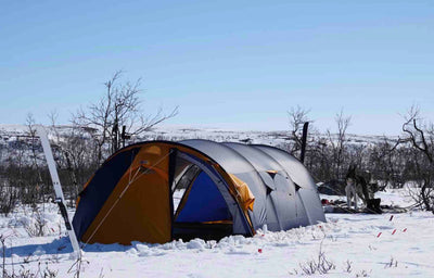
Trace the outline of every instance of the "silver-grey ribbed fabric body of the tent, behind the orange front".
{"type": "MultiPolygon", "coordinates": [[[[306,167],[289,153],[269,146],[183,140],[247,184],[255,195],[250,212],[253,228],[269,230],[326,222],[316,185],[306,167]]],[[[243,227],[239,227],[240,231],[243,227]]],[[[234,231],[237,227],[234,226],[234,231]]]]}

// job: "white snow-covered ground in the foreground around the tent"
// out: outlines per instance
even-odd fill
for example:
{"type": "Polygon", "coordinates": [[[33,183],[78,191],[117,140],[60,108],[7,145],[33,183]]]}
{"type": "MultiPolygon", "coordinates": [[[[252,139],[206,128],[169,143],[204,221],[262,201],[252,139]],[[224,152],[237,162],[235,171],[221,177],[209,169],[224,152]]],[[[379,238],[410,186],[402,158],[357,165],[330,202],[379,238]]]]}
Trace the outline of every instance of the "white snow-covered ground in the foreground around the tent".
{"type": "MultiPolygon", "coordinates": [[[[378,197],[385,204],[408,206],[405,193],[387,190],[378,197]]],[[[302,267],[318,261],[320,252],[335,267],[315,277],[434,277],[433,214],[327,214],[327,219],[279,232],[265,227],[253,238],[88,244],[80,277],[298,277],[306,275],[302,267]]],[[[38,267],[47,267],[58,271],[58,277],[74,277],[77,264],[62,225],[53,204],[37,212],[21,206],[8,217],[0,216],[0,235],[7,238],[7,270],[36,273],[38,267]],[[46,222],[42,237],[27,232],[35,226],[35,216],[46,222]]]]}

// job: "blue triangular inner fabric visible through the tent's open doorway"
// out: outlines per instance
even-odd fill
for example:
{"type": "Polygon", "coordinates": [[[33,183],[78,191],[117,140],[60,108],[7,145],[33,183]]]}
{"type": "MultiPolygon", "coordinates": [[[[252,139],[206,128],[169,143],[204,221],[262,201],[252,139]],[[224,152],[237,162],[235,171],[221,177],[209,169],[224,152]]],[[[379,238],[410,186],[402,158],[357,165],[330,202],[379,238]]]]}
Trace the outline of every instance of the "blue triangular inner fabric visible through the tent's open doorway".
{"type": "Polygon", "coordinates": [[[176,222],[203,223],[230,219],[228,206],[214,181],[204,172],[194,180],[176,222]]]}

